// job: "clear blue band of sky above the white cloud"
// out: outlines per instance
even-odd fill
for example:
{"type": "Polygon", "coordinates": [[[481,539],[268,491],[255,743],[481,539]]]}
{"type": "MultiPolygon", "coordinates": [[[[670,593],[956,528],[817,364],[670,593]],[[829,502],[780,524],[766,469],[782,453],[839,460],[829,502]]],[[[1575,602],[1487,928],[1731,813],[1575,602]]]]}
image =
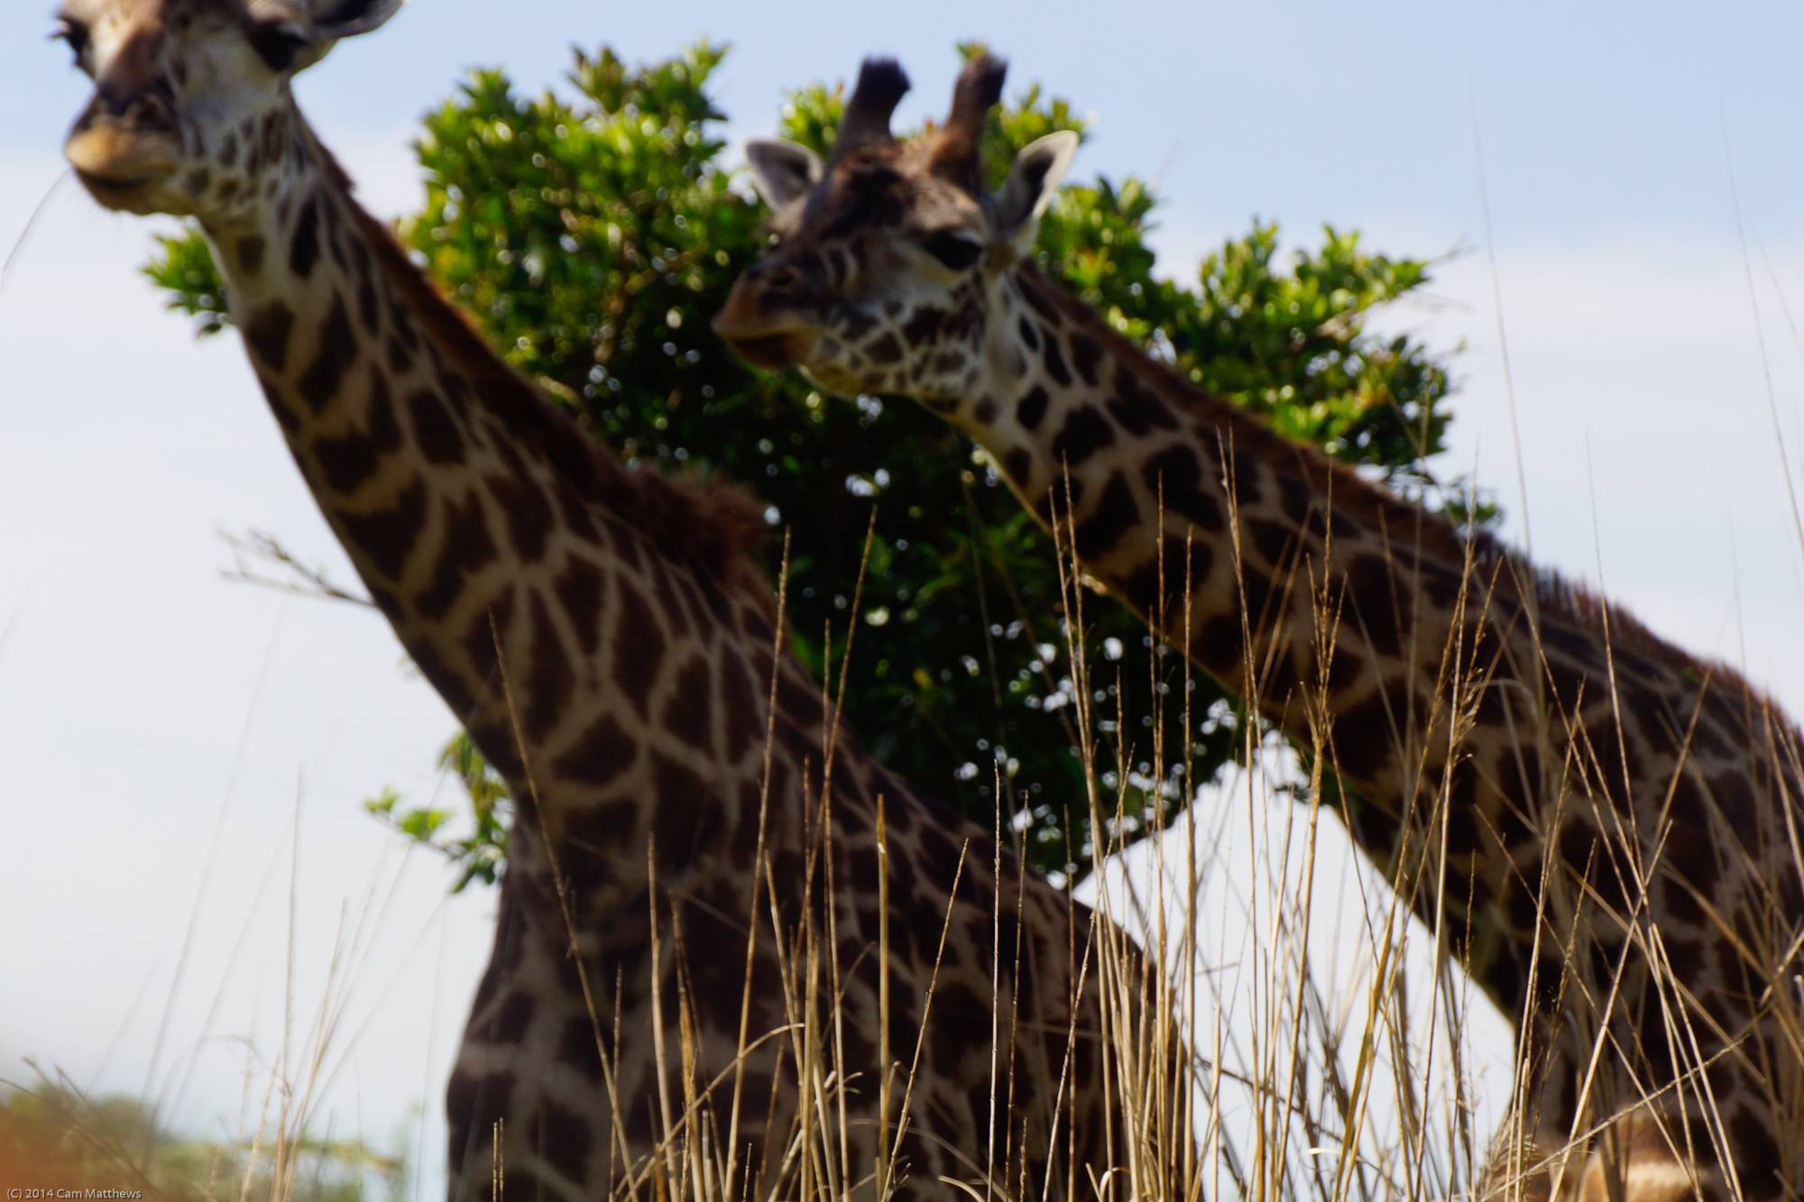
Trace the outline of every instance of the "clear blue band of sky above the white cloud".
{"type": "MultiPolygon", "coordinates": [[[[0,146],[52,144],[81,85],[36,42],[51,4],[9,5],[0,40],[0,146]]],[[[904,114],[940,112],[951,43],[987,40],[1016,81],[1041,79],[1100,116],[1086,166],[1155,175],[1191,209],[1238,224],[1474,200],[1474,101],[1501,229],[1721,220],[1723,119],[1750,213],[1797,222],[1800,168],[1761,155],[1804,128],[1795,47],[1804,9],[1781,2],[1633,4],[687,4],[415,0],[382,38],[345,47],[303,94],[330,134],[411,121],[464,67],[554,81],[566,47],[630,58],[709,36],[736,49],[720,78],[741,128],[783,88],[842,78],[862,54],[902,56],[904,114]],[[1764,199],[1764,204],[1761,200],[1764,199]]]]}

